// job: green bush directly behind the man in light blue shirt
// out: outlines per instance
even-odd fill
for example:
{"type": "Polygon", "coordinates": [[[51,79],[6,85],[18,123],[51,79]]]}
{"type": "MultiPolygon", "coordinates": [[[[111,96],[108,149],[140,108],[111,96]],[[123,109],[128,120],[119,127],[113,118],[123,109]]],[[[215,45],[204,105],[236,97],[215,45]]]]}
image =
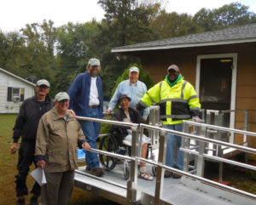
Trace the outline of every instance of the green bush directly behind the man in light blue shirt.
{"type": "Polygon", "coordinates": [[[137,63],[135,64],[131,64],[127,67],[127,69],[125,69],[125,71],[123,72],[123,74],[117,79],[115,86],[112,90],[112,96],[114,94],[115,89],[118,87],[119,83],[121,83],[122,81],[125,81],[127,79],[129,79],[129,70],[132,66],[137,66],[140,70],[140,76],[139,76],[139,81],[143,82],[146,84],[147,88],[151,88],[154,85],[153,79],[152,77],[150,77],[148,72],[143,71],[143,66],[142,65],[138,65],[137,63]]]}

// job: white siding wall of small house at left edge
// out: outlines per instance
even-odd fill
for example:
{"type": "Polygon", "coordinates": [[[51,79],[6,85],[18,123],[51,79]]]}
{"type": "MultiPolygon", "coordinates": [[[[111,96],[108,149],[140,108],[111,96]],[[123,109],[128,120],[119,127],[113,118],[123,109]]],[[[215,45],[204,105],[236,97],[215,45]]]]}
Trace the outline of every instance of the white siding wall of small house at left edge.
{"type": "Polygon", "coordinates": [[[18,113],[22,102],[7,101],[8,87],[25,88],[24,99],[32,97],[34,87],[0,71],[0,113],[18,113]]]}

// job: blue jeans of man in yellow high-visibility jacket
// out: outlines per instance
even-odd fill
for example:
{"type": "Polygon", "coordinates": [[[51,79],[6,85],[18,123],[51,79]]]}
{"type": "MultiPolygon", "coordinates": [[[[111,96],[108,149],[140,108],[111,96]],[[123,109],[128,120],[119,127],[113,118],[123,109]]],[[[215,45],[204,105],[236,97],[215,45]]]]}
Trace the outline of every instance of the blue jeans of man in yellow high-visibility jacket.
{"type": "MultiPolygon", "coordinates": [[[[182,131],[183,130],[183,123],[179,124],[163,124],[164,128],[182,131]]],[[[174,134],[167,134],[167,148],[166,148],[166,166],[172,168],[178,168],[183,170],[183,160],[184,160],[184,152],[180,151],[182,138],[180,136],[174,134]],[[176,162],[174,161],[174,141],[177,143],[177,157],[176,162]]]]}

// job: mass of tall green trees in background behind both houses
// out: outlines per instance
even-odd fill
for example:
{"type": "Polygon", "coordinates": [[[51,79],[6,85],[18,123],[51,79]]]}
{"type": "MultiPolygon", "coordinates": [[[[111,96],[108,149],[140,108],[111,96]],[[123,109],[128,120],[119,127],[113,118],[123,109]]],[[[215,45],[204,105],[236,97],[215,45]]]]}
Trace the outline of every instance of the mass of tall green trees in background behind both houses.
{"type": "Polygon", "coordinates": [[[90,58],[98,58],[102,62],[104,100],[110,100],[118,77],[129,65],[139,62],[136,57],[113,54],[112,48],[256,22],[256,14],[241,3],[201,9],[192,16],[167,13],[161,9],[163,2],[101,0],[98,3],[105,11],[101,22],[69,22],[55,27],[52,20],[44,20],[27,24],[20,32],[0,31],[0,67],[24,78],[34,75],[48,79],[50,95],[54,96],[67,91],[74,77],[85,71],[90,58]]]}

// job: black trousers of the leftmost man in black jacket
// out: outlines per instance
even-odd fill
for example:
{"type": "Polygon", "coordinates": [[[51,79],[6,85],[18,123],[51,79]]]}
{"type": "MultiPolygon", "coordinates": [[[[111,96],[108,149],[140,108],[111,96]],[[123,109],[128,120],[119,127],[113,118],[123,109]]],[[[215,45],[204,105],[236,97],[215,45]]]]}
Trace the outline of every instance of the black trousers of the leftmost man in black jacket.
{"type": "MultiPolygon", "coordinates": [[[[19,173],[15,175],[16,196],[22,196],[22,195],[28,194],[28,190],[26,187],[26,177],[29,172],[29,167],[32,165],[32,162],[34,162],[36,166],[34,155],[35,155],[35,142],[22,141],[20,144],[19,159],[18,159],[18,165],[17,165],[17,169],[19,173]]],[[[32,190],[30,192],[40,196],[41,187],[40,185],[38,185],[36,181],[32,185],[32,190]]]]}

